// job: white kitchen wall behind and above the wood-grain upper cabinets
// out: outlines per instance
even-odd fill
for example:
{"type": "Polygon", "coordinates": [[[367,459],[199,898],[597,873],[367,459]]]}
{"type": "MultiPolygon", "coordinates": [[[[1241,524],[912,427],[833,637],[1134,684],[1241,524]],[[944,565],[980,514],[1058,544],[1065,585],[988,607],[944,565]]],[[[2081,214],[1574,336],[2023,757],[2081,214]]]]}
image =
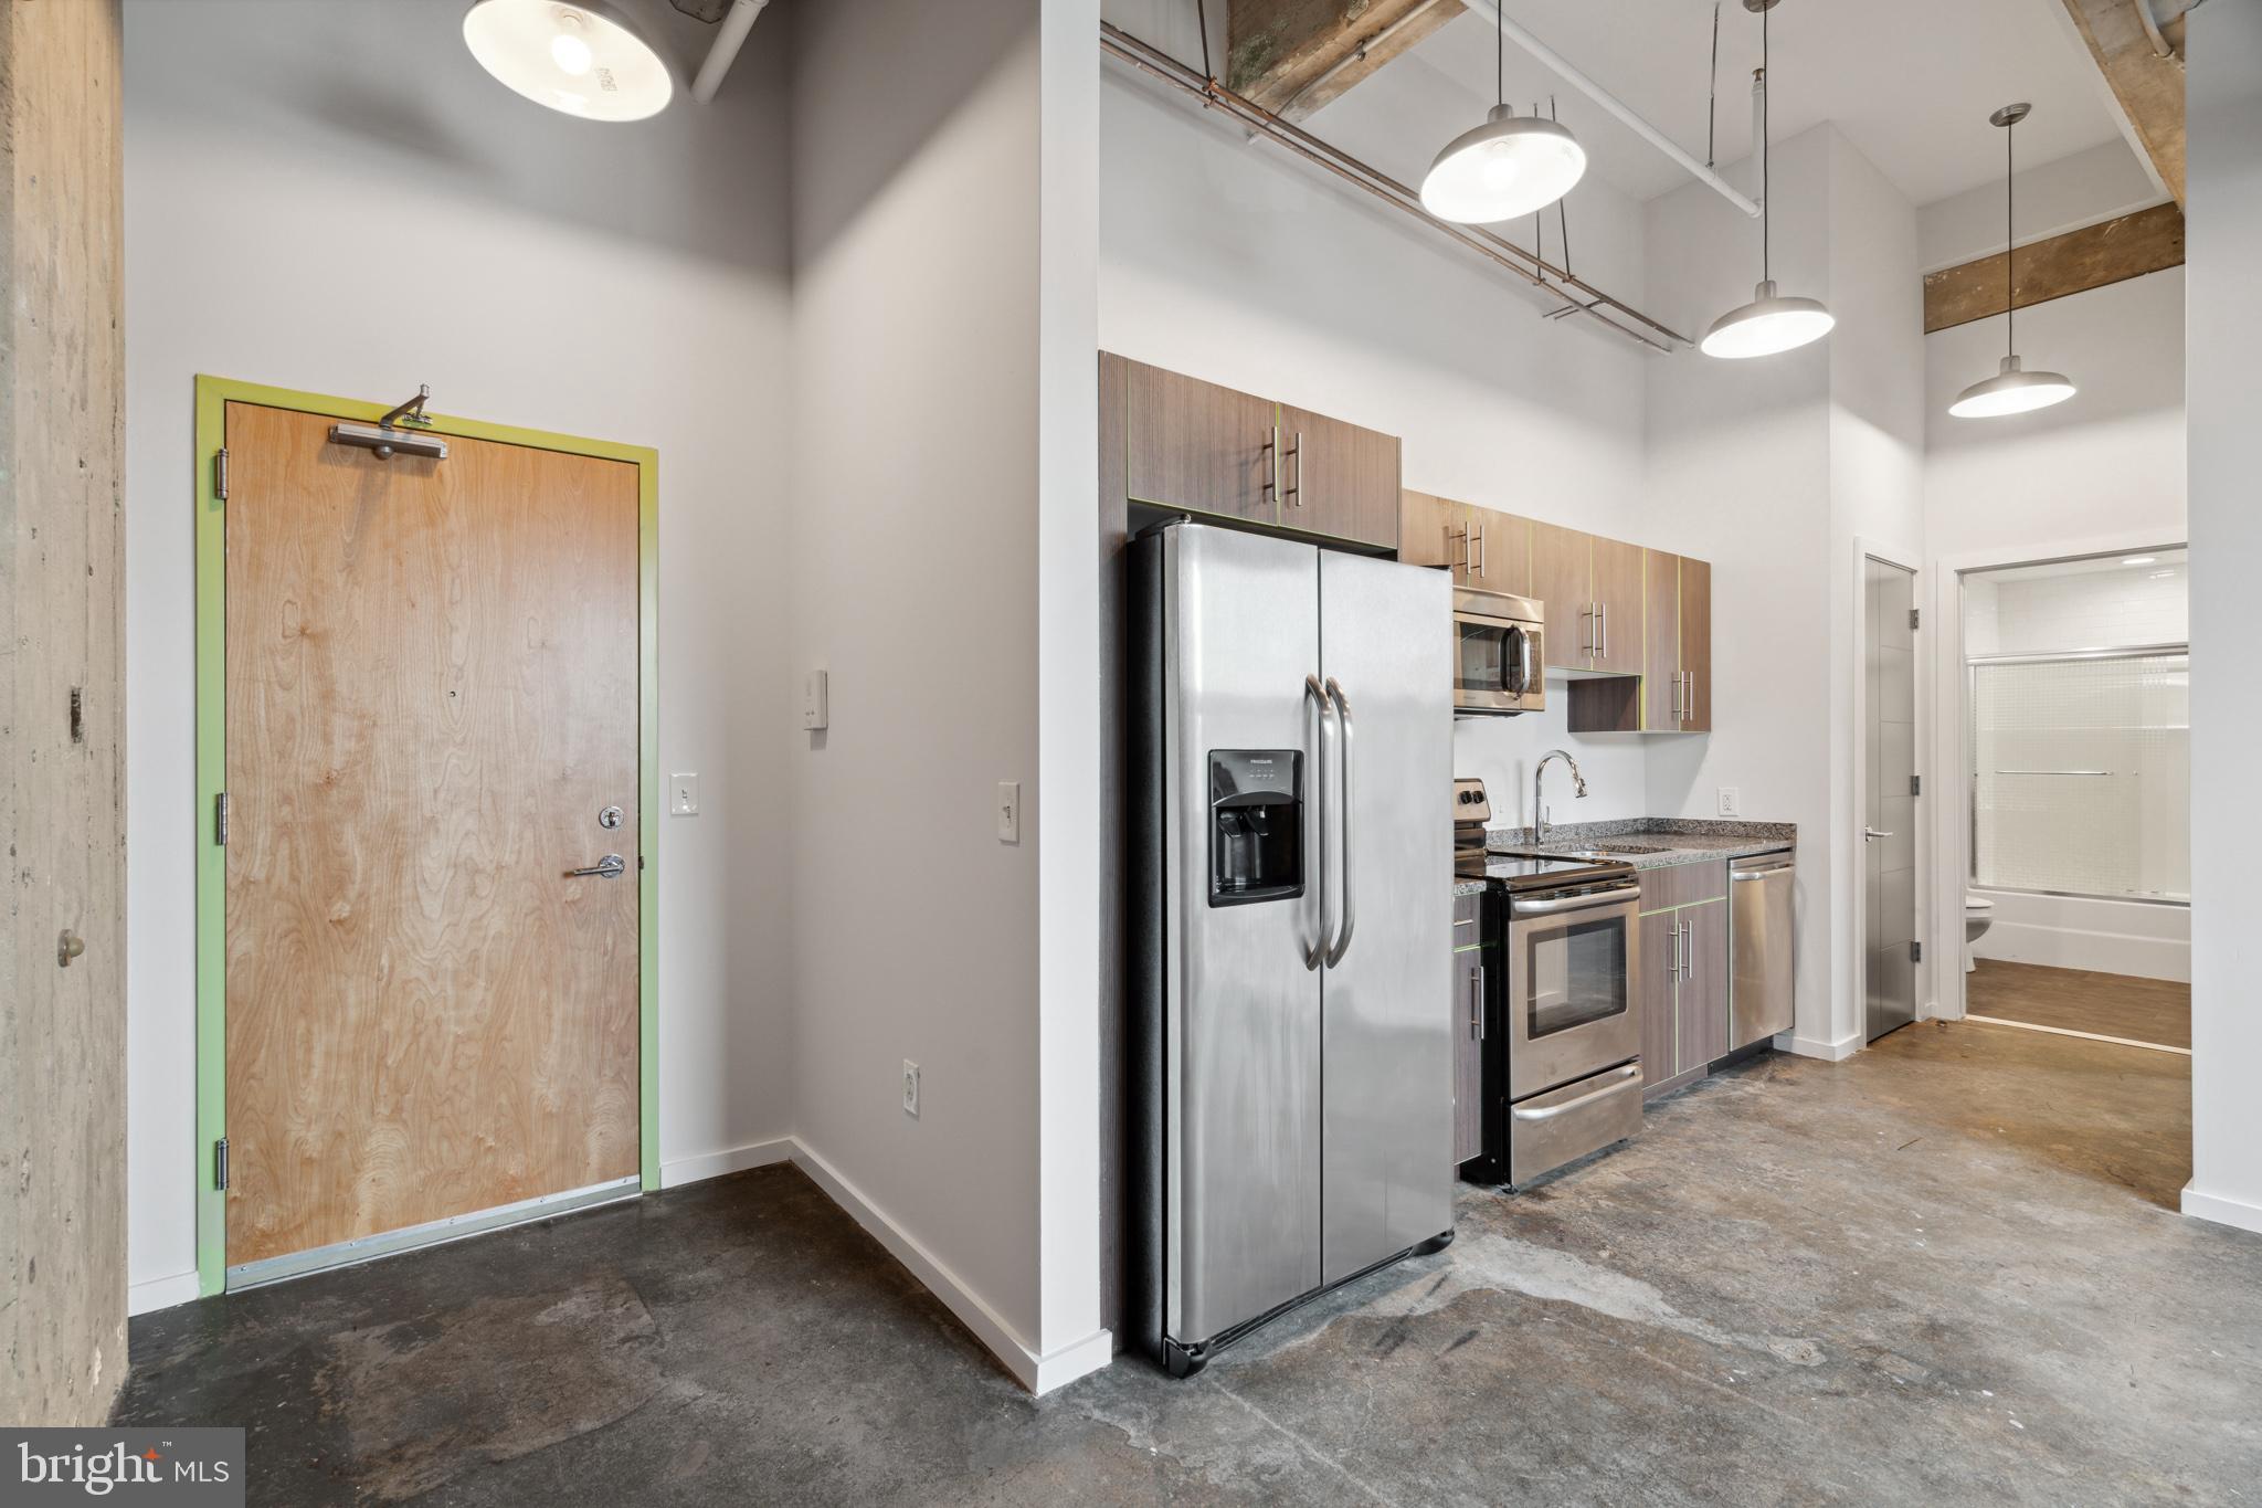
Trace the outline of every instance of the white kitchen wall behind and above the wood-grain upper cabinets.
{"type": "MultiPolygon", "coordinates": [[[[1126,25],[1174,36],[1154,16],[1126,25]]],[[[1642,375],[1667,357],[1540,319],[1556,301],[1117,68],[1102,176],[1102,348],[1398,434],[1409,488],[1647,540],[1642,375]]],[[[1638,208],[1601,183],[1574,203],[1574,235],[1595,246],[1581,274],[1640,307],[1638,208]]],[[[1454,773],[1486,782],[1495,823],[1522,823],[1531,762],[1565,746],[1592,796],[1572,800],[1563,780],[1559,821],[1640,816],[1640,739],[1568,733],[1561,681],[1549,701],[1454,723],[1454,773]]]]}

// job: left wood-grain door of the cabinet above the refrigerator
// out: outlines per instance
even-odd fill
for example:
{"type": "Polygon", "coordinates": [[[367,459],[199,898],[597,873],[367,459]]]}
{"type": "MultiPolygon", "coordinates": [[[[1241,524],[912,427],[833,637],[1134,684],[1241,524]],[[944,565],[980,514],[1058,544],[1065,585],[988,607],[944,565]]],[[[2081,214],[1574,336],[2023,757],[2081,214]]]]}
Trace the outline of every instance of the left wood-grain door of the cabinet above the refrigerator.
{"type": "MultiPolygon", "coordinates": [[[[1264,398],[1124,362],[1124,479],[1131,502],[1278,522],[1276,414],[1264,398]]],[[[1396,502],[1393,473],[1393,513],[1396,502]]]]}

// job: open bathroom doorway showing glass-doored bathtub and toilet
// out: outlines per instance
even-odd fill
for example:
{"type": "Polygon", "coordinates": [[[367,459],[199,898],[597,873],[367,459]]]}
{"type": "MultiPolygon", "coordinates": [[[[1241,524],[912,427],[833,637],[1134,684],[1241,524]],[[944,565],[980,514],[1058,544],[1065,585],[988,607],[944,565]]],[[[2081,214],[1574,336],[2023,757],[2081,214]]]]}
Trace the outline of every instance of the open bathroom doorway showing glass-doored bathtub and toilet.
{"type": "Polygon", "coordinates": [[[2190,1056],[2187,549],[1959,597],[1963,1015],[2190,1056]]]}

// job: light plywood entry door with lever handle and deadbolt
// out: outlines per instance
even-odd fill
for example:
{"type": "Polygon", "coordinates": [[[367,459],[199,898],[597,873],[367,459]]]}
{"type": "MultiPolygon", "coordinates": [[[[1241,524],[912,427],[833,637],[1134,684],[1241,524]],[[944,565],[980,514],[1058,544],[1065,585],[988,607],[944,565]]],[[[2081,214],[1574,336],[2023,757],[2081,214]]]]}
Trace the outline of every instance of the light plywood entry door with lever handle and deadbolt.
{"type": "Polygon", "coordinates": [[[638,1171],[638,470],[328,427],[226,405],[231,1268],[638,1171]]]}

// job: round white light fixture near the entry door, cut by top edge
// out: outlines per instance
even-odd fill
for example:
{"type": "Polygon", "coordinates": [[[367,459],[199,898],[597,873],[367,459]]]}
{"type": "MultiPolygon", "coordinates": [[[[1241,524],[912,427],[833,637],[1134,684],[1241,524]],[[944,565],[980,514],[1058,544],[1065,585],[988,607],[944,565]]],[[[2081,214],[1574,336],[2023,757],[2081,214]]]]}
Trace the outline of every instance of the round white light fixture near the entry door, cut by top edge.
{"type": "Polygon", "coordinates": [[[475,0],[464,45],[534,104],[584,120],[645,120],[676,79],[613,0],[475,0]]]}

